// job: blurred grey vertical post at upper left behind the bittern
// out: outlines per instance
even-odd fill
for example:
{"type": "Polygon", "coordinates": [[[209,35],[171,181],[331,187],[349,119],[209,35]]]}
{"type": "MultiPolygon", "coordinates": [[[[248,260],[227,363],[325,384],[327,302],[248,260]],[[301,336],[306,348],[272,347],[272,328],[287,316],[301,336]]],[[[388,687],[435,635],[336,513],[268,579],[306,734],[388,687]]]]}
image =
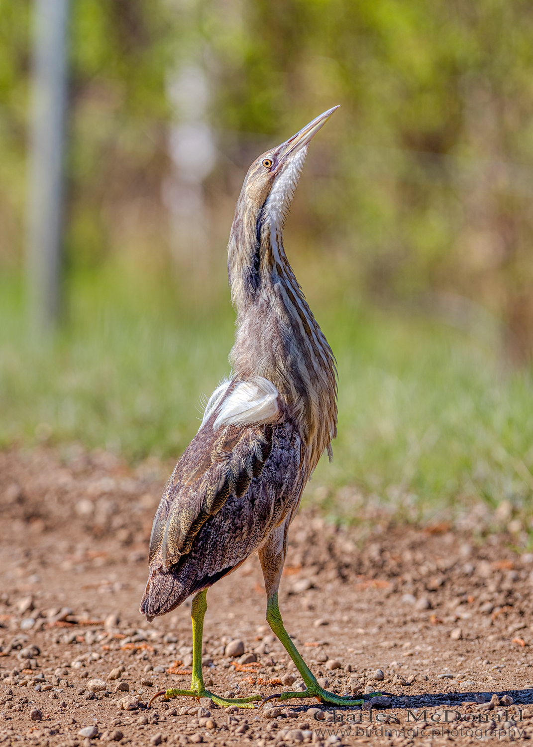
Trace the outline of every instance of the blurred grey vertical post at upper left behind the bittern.
{"type": "Polygon", "coordinates": [[[60,310],[66,27],[69,0],[34,0],[26,270],[32,331],[60,310]]]}

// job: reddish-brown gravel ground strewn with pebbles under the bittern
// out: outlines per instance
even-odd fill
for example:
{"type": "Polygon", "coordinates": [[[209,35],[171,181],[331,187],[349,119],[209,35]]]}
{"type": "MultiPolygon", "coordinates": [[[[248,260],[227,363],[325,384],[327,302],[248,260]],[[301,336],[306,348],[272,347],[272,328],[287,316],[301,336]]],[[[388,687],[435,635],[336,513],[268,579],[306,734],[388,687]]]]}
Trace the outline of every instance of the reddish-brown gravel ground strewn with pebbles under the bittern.
{"type": "MultiPolygon", "coordinates": [[[[533,555],[515,553],[505,535],[476,538],[475,526],[341,530],[310,512],[290,534],[287,630],[329,689],[390,695],[362,709],[299,699],[228,713],[175,698],[147,710],[158,689],[188,686],[192,651],[190,604],[152,624],[138,613],[165,473],[156,461],[133,471],[81,447],[0,453],[1,745],[531,738],[533,555]]],[[[208,604],[213,692],[298,686],[264,624],[257,557],[217,583],[208,604]]]]}

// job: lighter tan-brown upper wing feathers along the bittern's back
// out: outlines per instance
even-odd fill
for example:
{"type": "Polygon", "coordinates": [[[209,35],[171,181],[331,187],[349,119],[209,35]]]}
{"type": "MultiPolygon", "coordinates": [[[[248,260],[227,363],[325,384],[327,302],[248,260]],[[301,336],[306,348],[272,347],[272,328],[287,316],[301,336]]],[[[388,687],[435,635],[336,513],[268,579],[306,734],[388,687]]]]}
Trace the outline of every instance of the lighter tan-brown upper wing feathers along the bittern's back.
{"type": "Polygon", "coordinates": [[[213,430],[209,418],[185,450],[155,515],[149,564],[169,568],[190,552],[205,521],[243,496],[272,450],[272,425],[213,430]]]}

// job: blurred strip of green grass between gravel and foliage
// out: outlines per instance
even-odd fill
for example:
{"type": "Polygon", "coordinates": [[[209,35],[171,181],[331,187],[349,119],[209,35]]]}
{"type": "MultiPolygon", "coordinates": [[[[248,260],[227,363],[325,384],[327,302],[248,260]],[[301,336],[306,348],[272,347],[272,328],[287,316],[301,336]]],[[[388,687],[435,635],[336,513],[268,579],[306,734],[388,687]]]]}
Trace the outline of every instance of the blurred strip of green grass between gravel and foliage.
{"type": "MultiPolygon", "coordinates": [[[[2,444],[81,441],[130,462],[179,456],[202,394],[229,370],[229,303],[193,318],[172,285],[115,268],[72,282],[69,319],[35,344],[19,284],[0,290],[2,444]]],[[[339,436],[305,500],[346,520],[388,512],[437,521],[481,501],[525,521],[531,372],[504,372],[493,350],[423,317],[328,299],[312,306],[337,356],[339,436]]]]}

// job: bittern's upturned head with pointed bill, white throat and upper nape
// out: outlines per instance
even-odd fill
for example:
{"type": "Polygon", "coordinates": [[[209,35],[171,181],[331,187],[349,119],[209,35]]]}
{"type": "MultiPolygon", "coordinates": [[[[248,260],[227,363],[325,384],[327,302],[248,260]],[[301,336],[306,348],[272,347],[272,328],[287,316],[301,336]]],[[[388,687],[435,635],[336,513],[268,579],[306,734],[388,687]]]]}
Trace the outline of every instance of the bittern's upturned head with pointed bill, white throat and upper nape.
{"type": "Polygon", "coordinates": [[[281,232],[309,143],[338,108],[334,106],[249,168],[237,200],[228,246],[232,297],[239,305],[254,294],[263,270],[272,269],[272,245],[282,252],[281,232]]]}

